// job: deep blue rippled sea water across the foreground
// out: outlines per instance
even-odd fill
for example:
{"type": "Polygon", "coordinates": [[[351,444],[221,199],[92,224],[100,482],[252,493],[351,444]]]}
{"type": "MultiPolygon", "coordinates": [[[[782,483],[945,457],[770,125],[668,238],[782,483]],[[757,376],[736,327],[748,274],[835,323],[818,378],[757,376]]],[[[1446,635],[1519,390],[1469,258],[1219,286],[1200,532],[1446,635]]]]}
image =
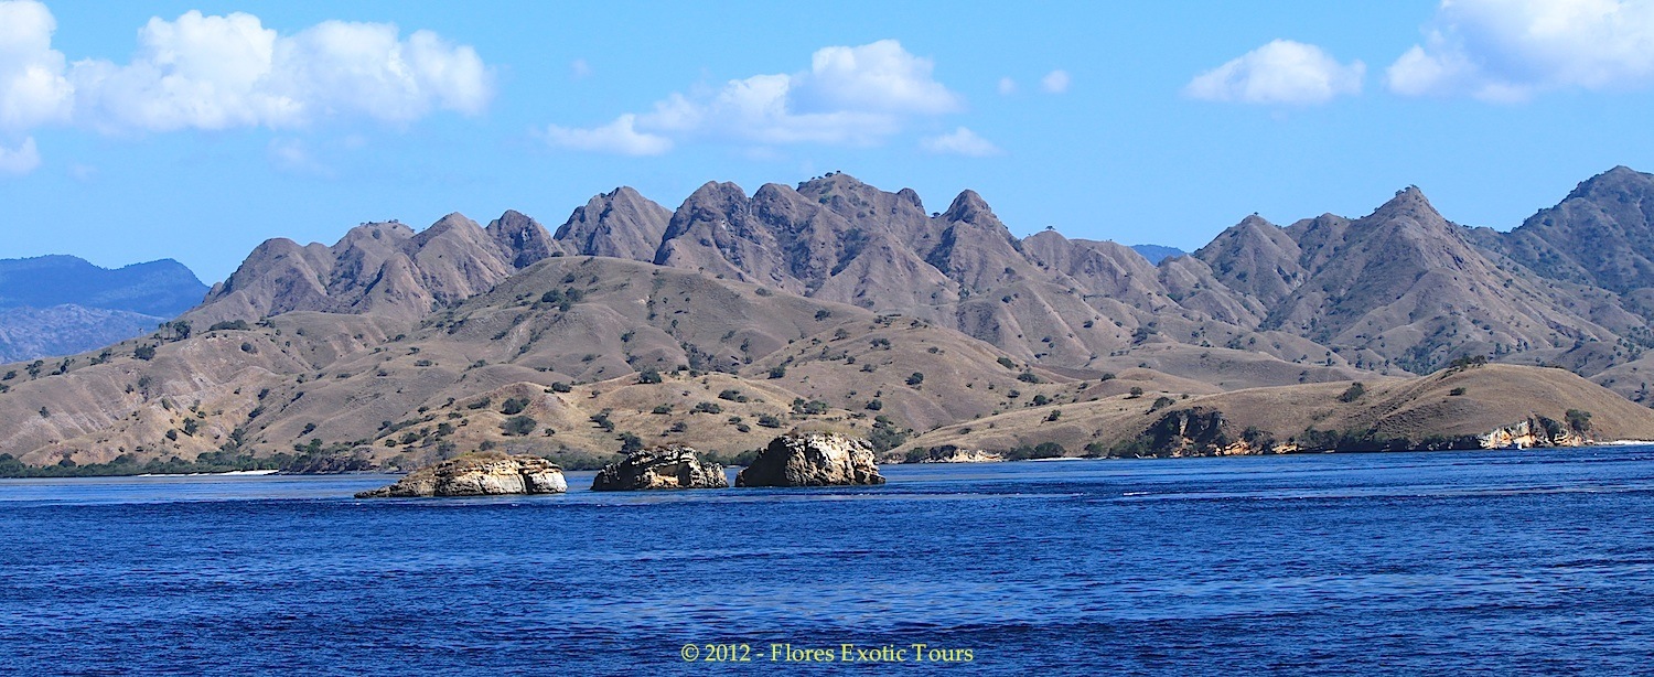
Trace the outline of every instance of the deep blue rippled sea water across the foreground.
{"type": "Polygon", "coordinates": [[[0,672],[1654,669],[1654,447],[885,473],[0,480],[0,672]]]}

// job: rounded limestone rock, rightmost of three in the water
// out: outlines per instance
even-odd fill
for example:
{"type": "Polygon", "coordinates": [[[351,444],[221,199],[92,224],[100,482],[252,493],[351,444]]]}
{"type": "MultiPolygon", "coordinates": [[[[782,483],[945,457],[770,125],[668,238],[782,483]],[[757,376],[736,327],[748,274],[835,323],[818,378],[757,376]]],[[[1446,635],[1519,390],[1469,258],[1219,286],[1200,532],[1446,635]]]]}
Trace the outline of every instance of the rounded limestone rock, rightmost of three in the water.
{"type": "Polygon", "coordinates": [[[776,437],[753,465],[734,478],[736,487],[842,487],[882,485],[873,445],[837,432],[776,437]]]}

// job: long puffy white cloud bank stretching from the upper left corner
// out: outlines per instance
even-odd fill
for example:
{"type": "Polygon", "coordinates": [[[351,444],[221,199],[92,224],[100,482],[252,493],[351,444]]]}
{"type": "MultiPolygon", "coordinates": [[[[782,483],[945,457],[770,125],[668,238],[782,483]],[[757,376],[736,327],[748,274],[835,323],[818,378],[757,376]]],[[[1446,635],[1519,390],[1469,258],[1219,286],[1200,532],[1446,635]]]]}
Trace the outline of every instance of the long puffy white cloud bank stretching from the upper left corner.
{"type": "Polygon", "coordinates": [[[298,127],[357,116],[409,122],[481,113],[493,78],[476,50],[395,25],[324,22],[283,36],[258,17],[151,18],[127,63],[65,65],[56,22],[33,0],[0,2],[0,127],[74,122],[106,132],[298,127]]]}

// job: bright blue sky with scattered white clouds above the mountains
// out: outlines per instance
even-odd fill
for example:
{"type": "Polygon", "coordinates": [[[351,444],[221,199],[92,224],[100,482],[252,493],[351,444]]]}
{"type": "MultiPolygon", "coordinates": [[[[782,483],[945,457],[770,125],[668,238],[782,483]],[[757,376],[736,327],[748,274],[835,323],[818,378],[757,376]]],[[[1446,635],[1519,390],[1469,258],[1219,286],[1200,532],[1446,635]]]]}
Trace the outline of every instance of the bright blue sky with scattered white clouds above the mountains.
{"type": "Polygon", "coordinates": [[[1416,184],[1515,227],[1654,170],[1649,0],[0,2],[0,258],[177,258],[844,170],[1204,245],[1416,184]]]}

